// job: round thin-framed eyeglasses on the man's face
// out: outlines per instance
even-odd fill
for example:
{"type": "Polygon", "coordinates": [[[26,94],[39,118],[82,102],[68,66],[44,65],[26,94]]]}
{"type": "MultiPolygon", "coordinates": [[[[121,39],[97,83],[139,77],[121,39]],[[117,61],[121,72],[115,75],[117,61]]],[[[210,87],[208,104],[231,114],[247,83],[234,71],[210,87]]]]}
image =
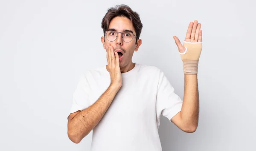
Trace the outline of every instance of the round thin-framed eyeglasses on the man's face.
{"type": "MultiPolygon", "coordinates": [[[[133,37],[135,36],[132,32],[116,32],[116,31],[107,31],[105,36],[108,41],[112,42],[115,41],[117,38],[117,34],[121,33],[122,34],[122,39],[125,43],[131,42],[133,37]]],[[[136,36],[135,36],[136,37],[136,36]]],[[[138,39],[138,37],[136,37],[138,39]]]]}

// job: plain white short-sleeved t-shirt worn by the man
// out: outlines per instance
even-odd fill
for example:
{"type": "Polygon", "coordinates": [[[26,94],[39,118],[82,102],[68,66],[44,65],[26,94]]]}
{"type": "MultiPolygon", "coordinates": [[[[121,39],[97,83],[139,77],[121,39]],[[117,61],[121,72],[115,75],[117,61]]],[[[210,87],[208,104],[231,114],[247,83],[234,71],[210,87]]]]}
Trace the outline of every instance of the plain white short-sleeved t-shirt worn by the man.
{"type": "MultiPolygon", "coordinates": [[[[73,94],[70,113],[95,103],[109,85],[105,67],[86,71],[73,94]]],[[[136,63],[122,73],[122,87],[93,129],[91,151],[162,151],[160,116],[171,120],[182,103],[159,68],[136,63]]]]}

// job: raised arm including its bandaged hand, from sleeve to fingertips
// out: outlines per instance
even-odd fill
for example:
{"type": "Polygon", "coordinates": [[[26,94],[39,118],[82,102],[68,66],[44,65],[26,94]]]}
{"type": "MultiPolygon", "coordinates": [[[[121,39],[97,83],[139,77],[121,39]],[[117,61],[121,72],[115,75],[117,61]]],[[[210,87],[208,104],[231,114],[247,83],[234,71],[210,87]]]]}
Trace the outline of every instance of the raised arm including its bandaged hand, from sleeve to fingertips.
{"type": "Polygon", "coordinates": [[[189,23],[186,38],[183,45],[174,36],[175,43],[181,54],[183,69],[185,73],[185,90],[181,111],[172,118],[172,122],[181,130],[195,132],[198,127],[199,115],[199,94],[198,94],[198,61],[202,50],[202,30],[201,23],[197,20],[189,23]]]}

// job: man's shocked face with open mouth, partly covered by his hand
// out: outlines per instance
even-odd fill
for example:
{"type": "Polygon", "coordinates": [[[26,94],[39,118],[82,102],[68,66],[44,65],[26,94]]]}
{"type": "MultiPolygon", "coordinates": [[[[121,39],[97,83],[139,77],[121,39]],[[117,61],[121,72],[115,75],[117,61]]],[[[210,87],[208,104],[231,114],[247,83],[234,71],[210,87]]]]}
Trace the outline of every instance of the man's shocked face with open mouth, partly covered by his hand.
{"type": "MultiPolygon", "coordinates": [[[[127,17],[115,17],[111,20],[108,28],[108,32],[125,32],[125,31],[132,31],[133,34],[136,36],[135,29],[132,25],[131,20],[129,20],[127,17]]],[[[107,31],[106,31],[107,32],[107,31]]],[[[133,36],[133,35],[131,35],[133,36]]],[[[136,42],[136,37],[133,36],[133,39],[126,43],[122,39],[122,33],[117,34],[117,38],[114,41],[109,41],[107,37],[102,37],[101,41],[103,44],[103,48],[106,46],[113,46],[114,51],[121,51],[119,52],[119,62],[120,62],[120,68],[127,66],[129,63],[131,63],[131,59],[133,56],[134,51],[138,51],[139,46],[141,45],[141,40],[138,39],[136,42]],[[104,41],[105,39],[105,41],[104,41]]],[[[106,49],[106,48],[105,48],[106,49]]]]}

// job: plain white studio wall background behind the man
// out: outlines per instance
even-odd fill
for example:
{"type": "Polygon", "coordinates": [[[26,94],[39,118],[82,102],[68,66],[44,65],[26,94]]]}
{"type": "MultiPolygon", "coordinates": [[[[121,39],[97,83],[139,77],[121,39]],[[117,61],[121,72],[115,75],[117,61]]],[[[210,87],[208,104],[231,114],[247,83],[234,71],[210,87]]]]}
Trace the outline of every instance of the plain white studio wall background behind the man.
{"type": "Polygon", "coordinates": [[[79,77],[105,66],[100,41],[107,9],[127,4],[140,14],[142,45],[133,62],[157,66],[183,99],[183,65],[172,36],[202,24],[200,117],[189,134],[167,118],[163,151],[256,150],[256,29],[253,0],[0,0],[0,150],[88,151],[67,137],[79,77]]]}

